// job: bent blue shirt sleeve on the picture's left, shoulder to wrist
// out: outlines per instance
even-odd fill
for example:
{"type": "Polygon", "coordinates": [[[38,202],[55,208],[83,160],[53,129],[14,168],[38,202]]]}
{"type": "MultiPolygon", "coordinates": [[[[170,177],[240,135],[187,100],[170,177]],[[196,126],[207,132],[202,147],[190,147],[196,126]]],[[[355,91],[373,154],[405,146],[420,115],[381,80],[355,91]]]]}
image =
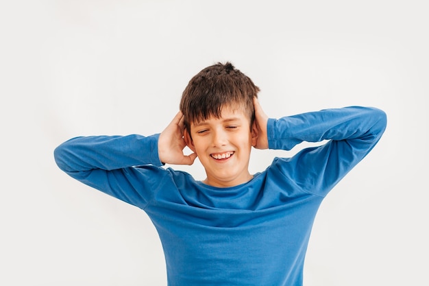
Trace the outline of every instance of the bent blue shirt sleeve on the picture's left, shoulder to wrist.
{"type": "Polygon", "coordinates": [[[158,136],[76,137],[56,147],[54,158],[71,177],[145,208],[167,172],[160,168],[158,136]]]}

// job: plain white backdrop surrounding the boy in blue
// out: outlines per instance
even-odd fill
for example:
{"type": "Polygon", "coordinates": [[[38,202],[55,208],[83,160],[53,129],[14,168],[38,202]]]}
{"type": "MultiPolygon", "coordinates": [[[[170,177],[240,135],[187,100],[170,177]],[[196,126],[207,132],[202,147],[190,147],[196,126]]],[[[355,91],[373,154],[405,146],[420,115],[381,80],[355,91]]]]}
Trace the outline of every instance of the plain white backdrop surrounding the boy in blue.
{"type": "MultiPolygon", "coordinates": [[[[304,285],[428,285],[427,14],[423,0],[1,1],[0,284],[166,285],[145,213],[66,176],[53,150],[161,132],[188,80],[230,60],[270,117],[387,112],[319,210],[304,285]]],[[[250,169],[295,151],[256,150],[250,169]]]]}

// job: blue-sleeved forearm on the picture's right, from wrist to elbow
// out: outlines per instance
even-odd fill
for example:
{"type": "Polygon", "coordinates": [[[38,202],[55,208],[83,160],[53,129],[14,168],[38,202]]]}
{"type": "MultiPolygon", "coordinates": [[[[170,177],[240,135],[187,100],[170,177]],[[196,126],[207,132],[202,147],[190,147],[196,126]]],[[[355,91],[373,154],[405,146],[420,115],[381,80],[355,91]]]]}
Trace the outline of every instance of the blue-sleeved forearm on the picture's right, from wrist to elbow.
{"type": "Polygon", "coordinates": [[[368,153],[386,128],[386,114],[377,108],[351,106],[268,119],[270,149],[291,150],[302,141],[347,141],[368,153]]]}

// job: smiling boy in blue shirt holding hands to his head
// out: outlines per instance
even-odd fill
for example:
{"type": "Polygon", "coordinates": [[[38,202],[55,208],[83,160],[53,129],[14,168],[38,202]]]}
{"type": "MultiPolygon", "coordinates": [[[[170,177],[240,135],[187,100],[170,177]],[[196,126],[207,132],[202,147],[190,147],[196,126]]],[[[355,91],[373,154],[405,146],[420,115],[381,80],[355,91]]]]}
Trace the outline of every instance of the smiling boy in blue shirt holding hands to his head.
{"type": "Polygon", "coordinates": [[[56,148],[73,178],[142,208],[156,226],[168,285],[302,285],[317,208],[379,141],[386,115],[348,107],[269,119],[259,88],[230,62],[191,79],[161,134],[89,136],[56,148]],[[249,154],[328,140],[250,174],[249,154]],[[186,145],[192,154],[183,153],[186,145]],[[193,164],[206,179],[163,164],[193,164]]]}

